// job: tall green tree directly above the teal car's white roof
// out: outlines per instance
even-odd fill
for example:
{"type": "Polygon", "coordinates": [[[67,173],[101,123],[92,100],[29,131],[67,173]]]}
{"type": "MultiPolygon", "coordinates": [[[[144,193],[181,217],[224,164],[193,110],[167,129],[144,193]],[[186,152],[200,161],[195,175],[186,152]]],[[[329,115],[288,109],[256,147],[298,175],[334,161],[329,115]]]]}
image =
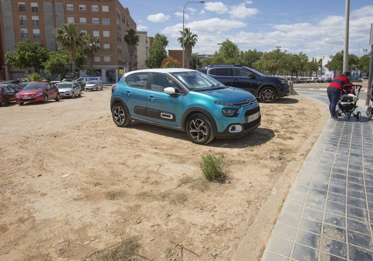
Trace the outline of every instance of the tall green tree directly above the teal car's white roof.
{"type": "Polygon", "coordinates": [[[154,41],[149,47],[149,56],[145,64],[148,68],[160,68],[163,59],[167,57],[166,46],[169,45],[167,37],[163,34],[157,33],[154,36],[154,41]]]}

